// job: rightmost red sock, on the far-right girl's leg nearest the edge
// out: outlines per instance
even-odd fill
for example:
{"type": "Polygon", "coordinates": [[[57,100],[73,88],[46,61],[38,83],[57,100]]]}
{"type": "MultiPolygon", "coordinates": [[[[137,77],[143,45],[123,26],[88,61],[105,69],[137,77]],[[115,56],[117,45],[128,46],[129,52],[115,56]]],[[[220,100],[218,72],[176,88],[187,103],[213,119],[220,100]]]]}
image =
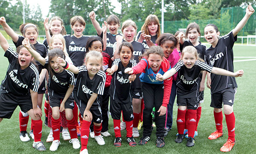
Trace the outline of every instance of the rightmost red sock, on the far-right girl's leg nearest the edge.
{"type": "Polygon", "coordinates": [[[236,118],[234,112],[230,114],[225,114],[226,123],[227,123],[227,131],[228,131],[228,139],[231,139],[232,142],[235,142],[235,123],[236,118]]]}

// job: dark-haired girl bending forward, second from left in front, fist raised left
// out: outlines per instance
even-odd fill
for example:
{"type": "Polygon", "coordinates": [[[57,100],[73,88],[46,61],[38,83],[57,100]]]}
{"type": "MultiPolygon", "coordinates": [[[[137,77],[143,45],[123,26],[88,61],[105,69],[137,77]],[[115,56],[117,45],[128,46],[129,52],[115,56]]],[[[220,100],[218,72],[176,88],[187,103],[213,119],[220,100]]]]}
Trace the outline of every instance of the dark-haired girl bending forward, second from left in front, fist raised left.
{"type": "Polygon", "coordinates": [[[48,96],[49,103],[52,108],[52,130],[53,130],[53,141],[50,146],[50,151],[56,151],[60,145],[60,112],[66,113],[68,129],[70,131],[73,148],[80,148],[79,140],[76,134],[76,122],[73,118],[72,110],[74,108],[73,88],[76,83],[76,78],[73,73],[68,70],[64,70],[60,67],[56,59],[61,56],[65,58],[64,52],[61,49],[55,48],[50,50],[48,54],[48,60],[44,59],[38,52],[33,50],[29,46],[29,40],[25,38],[22,42],[23,46],[29,50],[29,52],[38,60],[44,68],[48,70],[49,81],[48,81],[48,96]]]}

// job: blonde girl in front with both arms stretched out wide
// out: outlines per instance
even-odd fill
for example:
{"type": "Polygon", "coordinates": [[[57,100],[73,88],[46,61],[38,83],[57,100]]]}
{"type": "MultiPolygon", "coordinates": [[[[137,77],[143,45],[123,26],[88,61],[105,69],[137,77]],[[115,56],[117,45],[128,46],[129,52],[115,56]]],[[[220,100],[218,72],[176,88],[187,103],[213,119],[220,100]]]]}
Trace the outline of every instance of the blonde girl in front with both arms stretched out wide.
{"type": "Polygon", "coordinates": [[[223,76],[242,76],[244,71],[239,70],[236,73],[211,67],[203,62],[198,56],[197,49],[194,46],[186,46],[181,55],[181,61],[174,68],[167,71],[164,75],[157,74],[157,80],[163,81],[166,78],[177,75],[177,129],[178,136],[175,142],[181,143],[184,138],[185,114],[188,112],[188,134],[186,146],[192,147],[195,145],[195,127],[196,127],[196,109],[199,104],[199,83],[198,80],[201,70],[206,70],[209,73],[214,73],[223,76]]]}

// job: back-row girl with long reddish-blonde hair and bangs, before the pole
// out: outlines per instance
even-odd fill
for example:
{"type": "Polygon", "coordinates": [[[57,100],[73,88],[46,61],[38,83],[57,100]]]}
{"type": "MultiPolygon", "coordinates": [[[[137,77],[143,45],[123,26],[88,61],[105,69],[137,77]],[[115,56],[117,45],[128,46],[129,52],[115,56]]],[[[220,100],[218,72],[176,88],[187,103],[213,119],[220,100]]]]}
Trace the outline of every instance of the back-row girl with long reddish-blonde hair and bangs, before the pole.
{"type": "Polygon", "coordinates": [[[148,49],[150,46],[147,44],[147,37],[150,37],[149,40],[155,44],[160,34],[161,29],[158,17],[156,15],[148,15],[148,17],[145,19],[145,23],[141,27],[141,31],[138,32],[136,36],[136,41],[142,43],[143,46],[148,49]]]}

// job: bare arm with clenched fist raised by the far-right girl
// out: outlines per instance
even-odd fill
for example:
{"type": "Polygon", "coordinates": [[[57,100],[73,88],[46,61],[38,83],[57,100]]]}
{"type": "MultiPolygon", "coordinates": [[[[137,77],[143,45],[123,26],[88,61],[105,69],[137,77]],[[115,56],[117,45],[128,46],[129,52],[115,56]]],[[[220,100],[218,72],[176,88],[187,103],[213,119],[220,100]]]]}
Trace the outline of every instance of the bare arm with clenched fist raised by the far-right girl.
{"type": "Polygon", "coordinates": [[[254,9],[251,5],[247,6],[246,13],[242,20],[236,25],[236,28],[233,29],[233,35],[234,37],[240,32],[240,30],[244,27],[244,25],[247,23],[250,16],[254,13],[254,9]]]}

